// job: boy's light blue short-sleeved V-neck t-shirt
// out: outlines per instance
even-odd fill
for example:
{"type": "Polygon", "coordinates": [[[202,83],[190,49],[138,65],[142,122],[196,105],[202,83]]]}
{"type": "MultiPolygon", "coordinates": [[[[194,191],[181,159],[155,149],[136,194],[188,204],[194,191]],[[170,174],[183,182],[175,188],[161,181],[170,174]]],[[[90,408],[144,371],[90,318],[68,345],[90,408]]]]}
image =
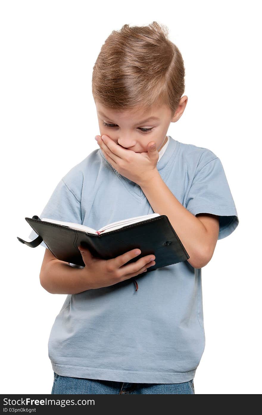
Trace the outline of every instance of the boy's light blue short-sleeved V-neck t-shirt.
{"type": "MultiPolygon", "coordinates": [[[[223,166],[211,150],[169,136],[157,169],[189,212],[219,216],[218,239],[238,226],[223,166]]],[[[140,186],[121,176],[96,149],[61,178],[39,217],[99,229],[150,213],[158,212],[140,186]]],[[[32,231],[29,238],[37,236],[32,231]]],[[[127,279],[67,295],[48,342],[54,372],[130,383],[194,378],[205,347],[201,269],[184,261],[135,279],[137,291],[133,279],[127,279]]]]}

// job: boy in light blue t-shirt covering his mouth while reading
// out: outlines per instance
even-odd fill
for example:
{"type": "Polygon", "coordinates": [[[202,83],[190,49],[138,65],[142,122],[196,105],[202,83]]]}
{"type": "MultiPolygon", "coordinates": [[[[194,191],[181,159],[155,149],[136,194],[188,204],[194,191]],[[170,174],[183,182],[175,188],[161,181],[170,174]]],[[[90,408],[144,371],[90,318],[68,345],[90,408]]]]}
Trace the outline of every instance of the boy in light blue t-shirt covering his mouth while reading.
{"type": "Polygon", "coordinates": [[[61,179],[40,218],[99,229],[167,215],[190,258],[147,273],[157,252],[141,257],[127,246],[100,260],[79,246],[78,268],[46,249],[41,285],[68,294],[48,343],[52,393],[194,393],[205,347],[201,268],[238,226],[223,166],[209,149],[167,136],[188,97],[181,54],[157,22],[112,32],[92,92],[100,149],[61,179]]]}

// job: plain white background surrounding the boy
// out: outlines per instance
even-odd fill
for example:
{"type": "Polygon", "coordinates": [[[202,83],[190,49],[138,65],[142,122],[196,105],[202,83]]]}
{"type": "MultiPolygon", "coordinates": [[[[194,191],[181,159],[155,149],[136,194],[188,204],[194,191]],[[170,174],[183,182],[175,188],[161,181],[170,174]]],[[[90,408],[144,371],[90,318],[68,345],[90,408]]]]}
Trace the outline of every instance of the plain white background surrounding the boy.
{"type": "MultiPolygon", "coordinates": [[[[188,104],[167,134],[222,161],[238,228],[202,269],[206,348],[196,394],[261,393],[261,32],[259,2],[2,1],[1,393],[51,393],[47,342],[66,295],[39,283],[44,247],[25,217],[98,148],[91,93],[100,47],[123,24],[169,28],[188,104]]],[[[102,225],[102,224],[101,224],[102,225]]]]}

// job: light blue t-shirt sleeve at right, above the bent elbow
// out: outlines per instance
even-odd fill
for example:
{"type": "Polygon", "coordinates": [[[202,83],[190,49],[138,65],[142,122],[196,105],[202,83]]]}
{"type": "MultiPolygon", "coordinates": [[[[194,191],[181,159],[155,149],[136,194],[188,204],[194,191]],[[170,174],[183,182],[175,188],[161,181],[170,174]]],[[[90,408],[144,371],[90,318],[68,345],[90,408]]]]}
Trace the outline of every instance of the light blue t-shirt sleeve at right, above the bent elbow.
{"type": "Polygon", "coordinates": [[[206,163],[195,174],[186,197],[186,209],[193,215],[218,215],[218,239],[227,237],[238,226],[238,213],[218,157],[206,163]]]}

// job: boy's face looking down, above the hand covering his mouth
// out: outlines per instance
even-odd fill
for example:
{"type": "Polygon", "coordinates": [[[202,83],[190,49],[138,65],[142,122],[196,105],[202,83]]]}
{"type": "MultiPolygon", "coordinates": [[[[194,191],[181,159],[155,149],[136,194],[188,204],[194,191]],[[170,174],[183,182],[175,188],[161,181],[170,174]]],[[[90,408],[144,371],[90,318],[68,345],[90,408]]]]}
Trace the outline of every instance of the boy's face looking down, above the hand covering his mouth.
{"type": "Polygon", "coordinates": [[[100,136],[110,137],[116,144],[135,153],[147,152],[147,144],[154,141],[157,151],[167,142],[167,130],[170,122],[179,120],[187,103],[184,95],[173,115],[167,105],[152,107],[149,111],[116,111],[104,107],[95,101],[100,136]],[[151,118],[155,117],[155,118],[151,118]]]}

